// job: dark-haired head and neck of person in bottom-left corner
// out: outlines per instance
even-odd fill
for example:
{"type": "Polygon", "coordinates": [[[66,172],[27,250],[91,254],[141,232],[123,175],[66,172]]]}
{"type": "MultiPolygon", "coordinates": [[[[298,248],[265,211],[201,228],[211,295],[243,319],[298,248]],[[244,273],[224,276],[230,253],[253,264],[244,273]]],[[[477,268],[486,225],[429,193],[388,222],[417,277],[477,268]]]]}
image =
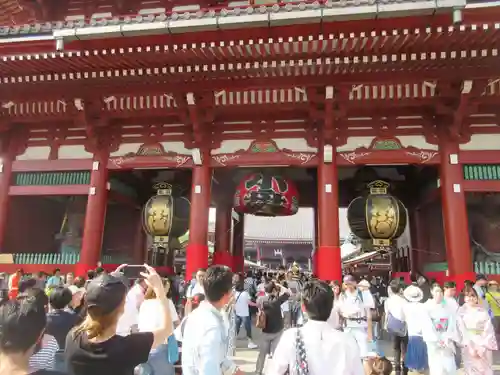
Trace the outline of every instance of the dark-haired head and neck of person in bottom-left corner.
{"type": "Polygon", "coordinates": [[[25,296],[0,305],[0,374],[57,375],[52,370],[30,369],[30,358],[44,337],[46,324],[43,301],[25,296]]]}

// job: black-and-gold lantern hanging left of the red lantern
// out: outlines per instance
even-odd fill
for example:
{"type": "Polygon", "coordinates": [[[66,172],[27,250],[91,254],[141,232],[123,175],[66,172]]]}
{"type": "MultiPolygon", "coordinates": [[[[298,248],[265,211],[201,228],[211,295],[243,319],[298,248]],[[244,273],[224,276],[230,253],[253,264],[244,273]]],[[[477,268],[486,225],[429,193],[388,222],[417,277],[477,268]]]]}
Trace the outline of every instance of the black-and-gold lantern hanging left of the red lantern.
{"type": "Polygon", "coordinates": [[[156,195],[144,205],[142,224],[144,231],[153,238],[153,252],[161,251],[166,255],[172,240],[188,231],[191,203],[185,197],[172,196],[171,184],[161,182],[153,188],[156,195]]]}

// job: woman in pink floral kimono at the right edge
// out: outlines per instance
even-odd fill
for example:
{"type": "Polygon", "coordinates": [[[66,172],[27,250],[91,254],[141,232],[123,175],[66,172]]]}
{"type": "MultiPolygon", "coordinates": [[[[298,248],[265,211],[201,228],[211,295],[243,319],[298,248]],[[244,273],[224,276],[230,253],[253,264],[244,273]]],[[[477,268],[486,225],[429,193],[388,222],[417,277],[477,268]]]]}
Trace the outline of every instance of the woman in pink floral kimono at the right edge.
{"type": "Polygon", "coordinates": [[[465,375],[493,375],[493,350],[498,347],[491,318],[474,288],[465,287],[463,295],[457,327],[465,375]]]}

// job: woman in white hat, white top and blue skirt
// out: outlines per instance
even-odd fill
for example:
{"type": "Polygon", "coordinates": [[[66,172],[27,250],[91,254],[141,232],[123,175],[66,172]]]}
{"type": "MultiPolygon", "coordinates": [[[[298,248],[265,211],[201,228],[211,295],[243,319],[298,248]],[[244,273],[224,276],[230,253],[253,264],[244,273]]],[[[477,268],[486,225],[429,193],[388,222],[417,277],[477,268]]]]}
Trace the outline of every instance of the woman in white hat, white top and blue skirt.
{"type": "Polygon", "coordinates": [[[404,306],[404,319],[408,330],[408,348],[406,350],[405,365],[411,374],[423,374],[429,368],[427,346],[422,338],[422,330],[427,314],[421,303],[424,292],[416,285],[407,287],[403,296],[408,301],[404,306]]]}

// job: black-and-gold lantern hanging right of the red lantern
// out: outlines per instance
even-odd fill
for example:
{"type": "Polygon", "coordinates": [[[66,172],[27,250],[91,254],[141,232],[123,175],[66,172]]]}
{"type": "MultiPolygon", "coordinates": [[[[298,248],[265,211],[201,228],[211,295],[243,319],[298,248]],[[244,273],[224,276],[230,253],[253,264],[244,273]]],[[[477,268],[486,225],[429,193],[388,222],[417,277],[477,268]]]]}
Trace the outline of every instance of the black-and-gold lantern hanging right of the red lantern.
{"type": "Polygon", "coordinates": [[[405,206],[389,194],[389,187],[382,180],[370,182],[368,194],[355,198],[347,209],[351,231],[361,239],[371,239],[378,250],[389,250],[392,240],[405,231],[408,220],[405,206]]]}

